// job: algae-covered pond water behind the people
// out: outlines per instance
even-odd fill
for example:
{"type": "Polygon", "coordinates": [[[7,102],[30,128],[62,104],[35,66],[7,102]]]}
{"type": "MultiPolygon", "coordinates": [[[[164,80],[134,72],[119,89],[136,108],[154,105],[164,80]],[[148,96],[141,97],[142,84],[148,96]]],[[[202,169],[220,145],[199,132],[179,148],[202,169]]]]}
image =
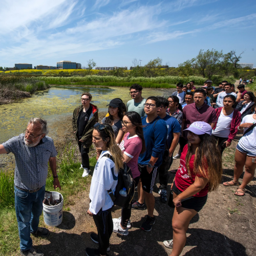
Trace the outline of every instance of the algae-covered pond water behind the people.
{"type": "MultiPolygon", "coordinates": [[[[145,88],[142,96],[167,96],[173,91],[174,89],[145,88]]],[[[0,105],[0,144],[23,133],[31,117],[46,119],[50,128],[49,136],[56,139],[56,133],[51,130],[51,126],[63,117],[72,116],[76,106],[81,104],[80,96],[83,92],[92,94],[92,103],[98,106],[99,112],[107,112],[106,105],[113,98],[121,98],[124,103],[131,99],[129,88],[123,87],[52,87],[33,94],[31,98],[0,105]]]]}

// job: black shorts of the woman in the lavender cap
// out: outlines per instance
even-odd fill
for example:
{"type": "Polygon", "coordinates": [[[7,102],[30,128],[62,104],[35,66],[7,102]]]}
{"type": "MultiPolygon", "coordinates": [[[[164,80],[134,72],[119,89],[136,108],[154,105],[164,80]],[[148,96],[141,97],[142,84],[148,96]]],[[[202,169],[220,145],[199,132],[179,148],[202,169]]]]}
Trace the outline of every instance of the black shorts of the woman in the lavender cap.
{"type": "MultiPolygon", "coordinates": [[[[173,183],[172,190],[176,195],[179,195],[180,193],[182,193],[182,191],[176,186],[175,182],[173,183]]],[[[199,212],[205,205],[206,201],[207,201],[207,195],[204,197],[192,197],[190,199],[182,201],[181,206],[183,208],[193,209],[199,212]]]]}

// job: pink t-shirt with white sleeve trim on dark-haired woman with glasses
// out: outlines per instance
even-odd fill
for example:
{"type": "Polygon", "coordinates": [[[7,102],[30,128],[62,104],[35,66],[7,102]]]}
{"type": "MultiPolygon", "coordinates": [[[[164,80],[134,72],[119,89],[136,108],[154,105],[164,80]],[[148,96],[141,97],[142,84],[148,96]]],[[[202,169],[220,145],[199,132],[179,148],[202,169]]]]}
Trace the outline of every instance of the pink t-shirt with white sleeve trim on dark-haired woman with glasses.
{"type": "Polygon", "coordinates": [[[132,159],[127,163],[127,165],[131,168],[133,178],[140,176],[140,171],[138,168],[138,159],[142,149],[142,141],[135,135],[133,137],[129,137],[130,133],[126,133],[123,140],[119,144],[121,151],[128,157],[132,159]]]}

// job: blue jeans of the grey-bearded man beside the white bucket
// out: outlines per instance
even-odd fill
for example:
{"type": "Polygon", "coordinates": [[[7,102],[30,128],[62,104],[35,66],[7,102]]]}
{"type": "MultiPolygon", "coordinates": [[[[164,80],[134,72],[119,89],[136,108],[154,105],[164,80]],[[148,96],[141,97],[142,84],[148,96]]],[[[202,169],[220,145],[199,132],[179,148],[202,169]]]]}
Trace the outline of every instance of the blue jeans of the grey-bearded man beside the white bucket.
{"type": "Polygon", "coordinates": [[[28,193],[14,186],[15,210],[18,222],[19,247],[26,251],[32,247],[30,232],[36,232],[39,217],[42,213],[42,201],[45,196],[45,186],[34,193],[28,193]]]}

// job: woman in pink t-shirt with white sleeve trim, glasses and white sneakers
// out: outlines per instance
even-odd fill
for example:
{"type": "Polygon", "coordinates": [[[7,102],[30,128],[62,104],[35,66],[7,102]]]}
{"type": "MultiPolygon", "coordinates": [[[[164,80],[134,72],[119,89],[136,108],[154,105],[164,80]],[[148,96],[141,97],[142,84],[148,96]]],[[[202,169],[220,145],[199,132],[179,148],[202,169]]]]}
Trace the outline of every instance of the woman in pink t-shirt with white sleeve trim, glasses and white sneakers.
{"type": "MultiPolygon", "coordinates": [[[[122,120],[122,130],[125,136],[119,144],[123,153],[123,161],[131,168],[135,186],[140,180],[140,171],[138,168],[139,155],[146,150],[145,140],[143,136],[142,122],[140,115],[135,112],[127,112],[122,120]]],[[[118,219],[113,219],[114,232],[128,235],[128,228],[131,228],[131,208],[122,208],[122,216],[118,219]]]]}

